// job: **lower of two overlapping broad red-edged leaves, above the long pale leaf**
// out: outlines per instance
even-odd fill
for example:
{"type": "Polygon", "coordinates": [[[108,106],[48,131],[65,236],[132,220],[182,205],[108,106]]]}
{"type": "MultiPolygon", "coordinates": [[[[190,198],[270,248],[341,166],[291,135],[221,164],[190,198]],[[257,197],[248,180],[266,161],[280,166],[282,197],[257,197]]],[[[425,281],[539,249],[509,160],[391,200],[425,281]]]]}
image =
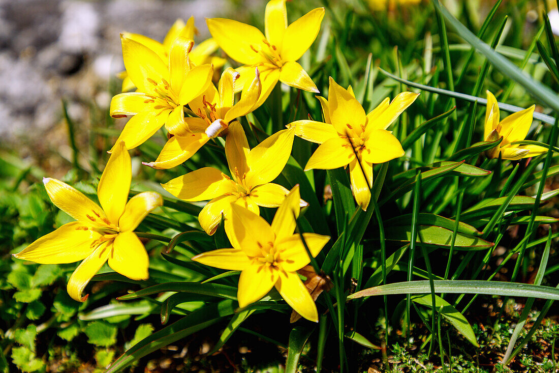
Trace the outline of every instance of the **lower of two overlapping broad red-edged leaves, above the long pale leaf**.
{"type": "MultiPolygon", "coordinates": [[[[418,244],[450,248],[452,232],[452,230],[443,227],[420,225],[418,226],[418,236],[415,241],[418,244]]],[[[387,240],[404,242],[411,240],[411,226],[389,226],[385,228],[385,233],[387,240]]],[[[493,245],[480,237],[458,232],[454,248],[457,250],[480,250],[490,248],[493,245]]]]}

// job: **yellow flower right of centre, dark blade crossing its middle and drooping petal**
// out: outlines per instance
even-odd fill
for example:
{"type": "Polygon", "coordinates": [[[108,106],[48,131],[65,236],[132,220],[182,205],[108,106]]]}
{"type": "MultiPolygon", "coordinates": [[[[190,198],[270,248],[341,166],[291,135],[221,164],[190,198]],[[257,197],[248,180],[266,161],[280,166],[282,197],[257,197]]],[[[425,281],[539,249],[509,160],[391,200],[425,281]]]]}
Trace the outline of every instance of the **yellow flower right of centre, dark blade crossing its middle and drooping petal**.
{"type": "Polygon", "coordinates": [[[320,144],[307,162],[305,171],[349,165],[353,197],[366,210],[371,199],[373,164],[404,155],[400,142],[386,128],[418,95],[402,92],[392,102],[386,97],[366,115],[351,87],[345,90],[330,78],[328,101],[317,96],[326,123],[297,120],[287,125],[295,128],[297,136],[320,144]]]}

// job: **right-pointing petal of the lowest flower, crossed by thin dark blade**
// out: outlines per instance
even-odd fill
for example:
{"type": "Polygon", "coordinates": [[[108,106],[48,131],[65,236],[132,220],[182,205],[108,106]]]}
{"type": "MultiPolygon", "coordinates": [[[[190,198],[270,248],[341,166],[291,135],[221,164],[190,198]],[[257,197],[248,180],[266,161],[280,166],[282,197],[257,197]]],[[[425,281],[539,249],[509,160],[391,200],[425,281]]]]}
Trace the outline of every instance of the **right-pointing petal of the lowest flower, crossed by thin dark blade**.
{"type": "MultiPolygon", "coordinates": [[[[329,236],[318,235],[316,233],[304,233],[303,238],[311,252],[312,257],[316,257],[324,245],[330,240],[329,236]]],[[[276,241],[280,253],[280,266],[284,271],[295,272],[305,267],[311,262],[305,245],[298,234],[284,237],[280,241],[276,241]]]]}

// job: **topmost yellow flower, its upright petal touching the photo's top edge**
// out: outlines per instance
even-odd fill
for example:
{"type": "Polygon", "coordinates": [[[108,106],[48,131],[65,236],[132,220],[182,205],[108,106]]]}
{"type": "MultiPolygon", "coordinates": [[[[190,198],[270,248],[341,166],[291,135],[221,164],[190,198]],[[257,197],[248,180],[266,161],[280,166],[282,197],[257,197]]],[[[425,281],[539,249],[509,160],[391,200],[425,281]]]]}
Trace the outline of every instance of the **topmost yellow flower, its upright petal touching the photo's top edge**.
{"type": "Polygon", "coordinates": [[[209,18],[208,29],[216,43],[229,57],[243,64],[241,79],[254,78],[260,71],[262,104],[278,80],[304,91],[318,92],[309,74],[296,62],[309,49],[320,30],[324,8],[315,8],[287,26],[285,0],[271,0],[266,5],[266,36],[256,27],[226,18],[209,18]],[[247,74],[245,74],[247,73],[247,74]]]}

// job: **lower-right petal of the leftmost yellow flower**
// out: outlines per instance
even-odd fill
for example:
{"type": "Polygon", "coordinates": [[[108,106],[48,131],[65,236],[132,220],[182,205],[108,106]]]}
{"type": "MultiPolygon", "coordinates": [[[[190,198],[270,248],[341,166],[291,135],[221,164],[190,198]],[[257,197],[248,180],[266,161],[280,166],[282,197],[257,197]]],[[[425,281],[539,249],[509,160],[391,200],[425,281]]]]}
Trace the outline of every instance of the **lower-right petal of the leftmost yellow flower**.
{"type": "Polygon", "coordinates": [[[116,236],[108,265],[130,279],[143,280],[149,277],[148,253],[134,232],[122,232],[116,236]]]}

